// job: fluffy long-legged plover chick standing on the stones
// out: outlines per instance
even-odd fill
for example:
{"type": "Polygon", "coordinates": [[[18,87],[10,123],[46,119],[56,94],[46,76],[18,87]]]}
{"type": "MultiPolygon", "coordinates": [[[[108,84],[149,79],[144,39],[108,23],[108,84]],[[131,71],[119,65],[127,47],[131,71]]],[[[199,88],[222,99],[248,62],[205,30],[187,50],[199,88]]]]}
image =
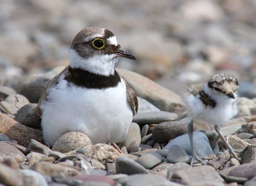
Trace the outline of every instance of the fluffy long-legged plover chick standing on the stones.
{"type": "MultiPolygon", "coordinates": [[[[195,159],[205,164],[195,152],[193,142],[194,121],[204,121],[214,125],[215,131],[225,143],[229,153],[239,159],[235,150],[228,144],[221,132],[220,125],[227,124],[238,114],[236,91],[239,87],[236,78],[227,74],[215,74],[208,83],[189,83],[185,92],[185,104],[191,121],[188,124],[188,135],[192,150],[191,165],[195,159]]],[[[237,152],[237,151],[236,151],[237,152]]]]}

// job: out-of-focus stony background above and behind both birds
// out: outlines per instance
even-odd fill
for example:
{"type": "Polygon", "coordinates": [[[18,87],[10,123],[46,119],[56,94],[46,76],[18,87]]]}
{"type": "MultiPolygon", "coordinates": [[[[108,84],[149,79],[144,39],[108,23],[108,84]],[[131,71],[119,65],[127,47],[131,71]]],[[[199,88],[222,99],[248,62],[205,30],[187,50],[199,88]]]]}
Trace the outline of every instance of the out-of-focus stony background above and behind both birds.
{"type": "Polygon", "coordinates": [[[241,96],[256,97],[255,0],[0,0],[0,84],[68,65],[86,27],[109,29],[138,57],[116,67],[178,94],[187,81],[225,72],[241,96]]]}

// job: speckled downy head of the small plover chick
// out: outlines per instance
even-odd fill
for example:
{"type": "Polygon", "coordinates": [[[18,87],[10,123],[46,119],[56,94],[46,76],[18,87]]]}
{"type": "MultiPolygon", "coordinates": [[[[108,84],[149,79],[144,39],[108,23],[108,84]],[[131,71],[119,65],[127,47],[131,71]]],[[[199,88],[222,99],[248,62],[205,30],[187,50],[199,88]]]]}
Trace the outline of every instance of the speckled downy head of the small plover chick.
{"type": "Polygon", "coordinates": [[[208,87],[213,94],[225,95],[228,98],[235,99],[236,91],[239,87],[236,78],[227,74],[215,74],[208,82],[208,87]]]}

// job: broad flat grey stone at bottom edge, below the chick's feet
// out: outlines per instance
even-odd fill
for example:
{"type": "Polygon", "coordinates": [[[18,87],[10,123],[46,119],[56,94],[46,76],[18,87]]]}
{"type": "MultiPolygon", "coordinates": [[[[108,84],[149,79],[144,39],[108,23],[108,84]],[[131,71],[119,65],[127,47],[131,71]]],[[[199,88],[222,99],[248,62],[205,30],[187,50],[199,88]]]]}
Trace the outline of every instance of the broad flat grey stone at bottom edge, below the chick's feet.
{"type": "Polygon", "coordinates": [[[174,171],[171,179],[177,179],[183,184],[191,185],[223,185],[225,183],[215,169],[208,165],[174,171]]]}

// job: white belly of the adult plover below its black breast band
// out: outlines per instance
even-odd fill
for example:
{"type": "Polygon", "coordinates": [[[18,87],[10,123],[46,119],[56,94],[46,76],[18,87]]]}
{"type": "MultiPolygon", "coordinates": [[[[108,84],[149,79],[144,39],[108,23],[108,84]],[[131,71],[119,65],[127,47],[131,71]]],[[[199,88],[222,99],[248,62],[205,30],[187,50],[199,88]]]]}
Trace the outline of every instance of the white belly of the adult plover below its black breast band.
{"type": "Polygon", "coordinates": [[[87,89],[61,80],[51,88],[51,102],[42,103],[42,129],[53,146],[70,131],[84,132],[92,143],[123,141],[132,122],[132,111],[122,82],[115,88],[87,89]]]}

